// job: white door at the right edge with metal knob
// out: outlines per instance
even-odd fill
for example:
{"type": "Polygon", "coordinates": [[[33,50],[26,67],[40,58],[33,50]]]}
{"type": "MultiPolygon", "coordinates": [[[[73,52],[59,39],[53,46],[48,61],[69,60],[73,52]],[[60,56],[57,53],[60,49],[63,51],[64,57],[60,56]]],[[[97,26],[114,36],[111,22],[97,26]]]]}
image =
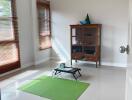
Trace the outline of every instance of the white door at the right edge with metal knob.
{"type": "Polygon", "coordinates": [[[129,54],[126,74],[126,100],[132,100],[132,0],[129,0],[129,54]]]}

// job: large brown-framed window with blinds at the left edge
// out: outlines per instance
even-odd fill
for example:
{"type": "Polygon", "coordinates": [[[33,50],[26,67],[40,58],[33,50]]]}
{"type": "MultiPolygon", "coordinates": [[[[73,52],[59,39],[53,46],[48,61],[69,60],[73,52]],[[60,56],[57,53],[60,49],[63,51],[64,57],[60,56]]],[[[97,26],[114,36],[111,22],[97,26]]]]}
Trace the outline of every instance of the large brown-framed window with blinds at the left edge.
{"type": "Polygon", "coordinates": [[[15,0],[0,0],[0,74],[20,67],[15,0]]]}

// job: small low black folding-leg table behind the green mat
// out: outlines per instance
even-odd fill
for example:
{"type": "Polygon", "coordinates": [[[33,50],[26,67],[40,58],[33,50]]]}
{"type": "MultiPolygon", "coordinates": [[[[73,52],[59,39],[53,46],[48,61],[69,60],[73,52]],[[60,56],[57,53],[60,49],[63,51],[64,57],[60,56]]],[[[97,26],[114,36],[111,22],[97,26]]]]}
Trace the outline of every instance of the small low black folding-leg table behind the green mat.
{"type": "Polygon", "coordinates": [[[54,71],[55,71],[54,75],[57,75],[57,74],[59,74],[61,72],[70,73],[70,74],[73,75],[73,77],[76,80],[77,80],[77,78],[79,78],[81,76],[81,73],[80,73],[81,69],[80,68],[66,67],[65,66],[64,68],[59,68],[59,67],[55,68],[54,71]],[[79,74],[78,76],[77,76],[77,73],[79,74]]]}

